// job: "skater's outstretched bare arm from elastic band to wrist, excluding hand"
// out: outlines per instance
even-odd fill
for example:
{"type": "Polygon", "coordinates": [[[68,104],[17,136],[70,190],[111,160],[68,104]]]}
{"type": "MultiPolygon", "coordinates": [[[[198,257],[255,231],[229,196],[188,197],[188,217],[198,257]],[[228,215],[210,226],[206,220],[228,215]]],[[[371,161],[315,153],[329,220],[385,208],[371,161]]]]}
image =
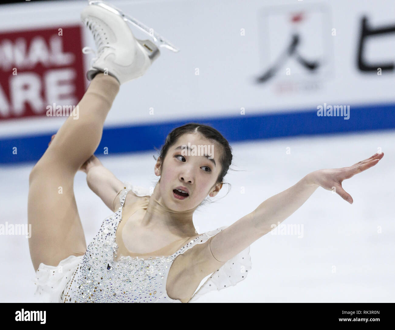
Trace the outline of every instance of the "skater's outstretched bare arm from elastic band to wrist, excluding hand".
{"type": "Polygon", "coordinates": [[[301,207],[318,187],[306,175],[292,187],[265,200],[254,211],[211,238],[210,249],[214,258],[226,262],[245,250],[301,207]]]}

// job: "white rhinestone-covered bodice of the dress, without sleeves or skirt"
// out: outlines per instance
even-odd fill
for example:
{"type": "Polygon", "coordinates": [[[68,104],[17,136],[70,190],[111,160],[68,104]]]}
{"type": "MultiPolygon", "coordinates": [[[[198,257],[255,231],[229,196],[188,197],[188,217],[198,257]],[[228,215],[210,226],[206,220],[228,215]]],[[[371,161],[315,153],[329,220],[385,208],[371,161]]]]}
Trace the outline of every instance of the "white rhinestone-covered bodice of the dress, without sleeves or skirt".
{"type": "Polygon", "coordinates": [[[130,188],[122,192],[120,207],[105,219],[88,245],[79,267],[71,275],[60,299],[63,302],[181,302],[167,296],[166,282],[175,258],[191,248],[205,234],[191,240],[171,256],[148,258],[120,256],[115,233],[122,219],[122,207],[130,188]]]}

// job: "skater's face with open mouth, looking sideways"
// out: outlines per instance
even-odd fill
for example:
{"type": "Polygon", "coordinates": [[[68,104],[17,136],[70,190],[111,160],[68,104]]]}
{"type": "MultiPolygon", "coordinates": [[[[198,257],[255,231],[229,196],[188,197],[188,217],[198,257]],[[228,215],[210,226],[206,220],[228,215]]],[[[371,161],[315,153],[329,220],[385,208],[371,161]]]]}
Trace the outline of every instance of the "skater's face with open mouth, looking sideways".
{"type": "Polygon", "coordinates": [[[164,204],[175,211],[186,211],[198,207],[207,195],[214,197],[222,188],[222,184],[216,183],[222,170],[222,152],[220,144],[198,133],[180,136],[169,147],[162,168],[160,158],[155,165],[164,204]],[[179,186],[187,189],[186,197],[182,192],[178,192],[181,196],[175,193],[179,186]]]}

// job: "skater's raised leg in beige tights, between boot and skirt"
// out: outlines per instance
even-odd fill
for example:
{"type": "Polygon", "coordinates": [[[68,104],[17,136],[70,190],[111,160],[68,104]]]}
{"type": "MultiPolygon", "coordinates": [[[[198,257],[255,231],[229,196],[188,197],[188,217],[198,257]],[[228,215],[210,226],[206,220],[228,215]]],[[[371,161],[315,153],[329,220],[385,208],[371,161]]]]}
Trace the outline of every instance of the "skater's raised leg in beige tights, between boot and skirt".
{"type": "Polygon", "coordinates": [[[87,249],[74,198],[74,176],[96,151],[118,91],[114,77],[97,74],[78,104],[78,119],[70,116],[65,120],[30,173],[29,249],[35,270],[41,262],[58,266],[61,260],[83,255],[87,249]]]}

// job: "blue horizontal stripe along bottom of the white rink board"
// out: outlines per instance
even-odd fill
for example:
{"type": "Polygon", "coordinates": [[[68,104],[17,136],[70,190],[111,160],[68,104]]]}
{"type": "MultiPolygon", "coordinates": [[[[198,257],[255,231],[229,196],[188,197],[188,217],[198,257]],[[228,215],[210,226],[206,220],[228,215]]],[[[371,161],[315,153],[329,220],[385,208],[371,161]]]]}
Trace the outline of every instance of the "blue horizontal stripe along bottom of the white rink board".
{"type": "MultiPolygon", "coordinates": [[[[154,151],[154,147],[160,149],[173,128],[192,122],[213,126],[229,143],[287,136],[386,130],[395,128],[395,104],[350,106],[348,120],[344,117],[318,117],[317,110],[312,110],[210,119],[195,117],[188,121],[105,128],[95,155],[103,155],[104,147],[108,147],[109,154],[154,151]]],[[[0,164],[36,162],[55,133],[1,139],[0,164]],[[17,147],[16,155],[13,154],[13,147],[17,147]]]]}

